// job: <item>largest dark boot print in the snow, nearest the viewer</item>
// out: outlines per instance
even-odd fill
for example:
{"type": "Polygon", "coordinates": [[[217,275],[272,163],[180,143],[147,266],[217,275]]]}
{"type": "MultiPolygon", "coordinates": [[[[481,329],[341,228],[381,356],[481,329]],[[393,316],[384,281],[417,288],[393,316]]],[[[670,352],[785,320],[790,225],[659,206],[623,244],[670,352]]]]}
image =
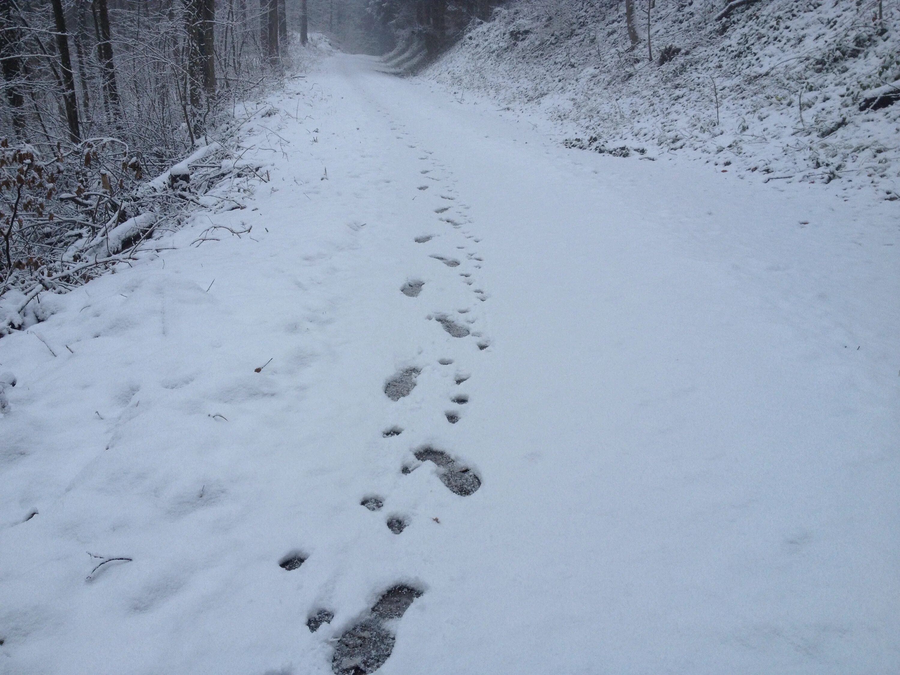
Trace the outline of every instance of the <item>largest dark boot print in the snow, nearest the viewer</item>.
{"type": "Polygon", "coordinates": [[[384,591],[372,609],[347,629],[335,645],[331,671],[335,675],[366,675],[390,658],[396,638],[386,622],[401,618],[422,591],[397,584],[384,591]]]}

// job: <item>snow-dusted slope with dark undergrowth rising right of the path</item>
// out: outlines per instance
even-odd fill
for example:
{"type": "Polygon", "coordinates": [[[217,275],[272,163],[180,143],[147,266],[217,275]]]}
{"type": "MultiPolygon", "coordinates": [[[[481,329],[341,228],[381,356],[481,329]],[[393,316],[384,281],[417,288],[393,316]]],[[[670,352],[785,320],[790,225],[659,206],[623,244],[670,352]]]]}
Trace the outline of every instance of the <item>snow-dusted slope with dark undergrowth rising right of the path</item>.
{"type": "Polygon", "coordinates": [[[769,182],[900,197],[900,4],[523,0],[424,75],[488,96],[573,148],[704,159],[769,182]],[[653,55],[653,62],[650,56],[653,55]],[[880,96],[877,94],[880,92],[880,96]],[[530,117],[532,113],[535,117],[530,117]]]}

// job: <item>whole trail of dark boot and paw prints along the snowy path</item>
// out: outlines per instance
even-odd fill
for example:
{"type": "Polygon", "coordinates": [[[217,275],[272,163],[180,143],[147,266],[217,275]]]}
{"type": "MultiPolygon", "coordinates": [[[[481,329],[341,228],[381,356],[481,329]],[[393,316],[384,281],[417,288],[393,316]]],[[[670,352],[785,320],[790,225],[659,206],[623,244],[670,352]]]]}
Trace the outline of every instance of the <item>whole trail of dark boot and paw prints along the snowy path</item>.
{"type": "MultiPolygon", "coordinates": [[[[392,127],[392,130],[397,130],[392,127]]],[[[405,135],[405,131],[401,131],[405,135]]],[[[398,137],[400,138],[400,137],[398,137]]],[[[416,148],[410,145],[410,148],[416,148]]],[[[425,150],[425,157],[419,157],[420,160],[433,162],[429,157],[431,152],[425,150]]],[[[440,182],[440,179],[428,175],[432,169],[422,169],[420,174],[431,180],[440,182]]],[[[419,185],[418,190],[425,192],[429,185],[419,185]]],[[[439,197],[445,202],[455,202],[455,197],[451,194],[441,193],[439,197]]],[[[462,205],[461,205],[462,206],[462,205]]],[[[450,225],[455,230],[461,230],[464,223],[455,220],[449,216],[445,216],[447,211],[455,207],[454,203],[450,205],[440,205],[432,211],[439,215],[439,222],[450,225]]],[[[466,208],[463,206],[463,208],[466,208]]],[[[473,239],[476,243],[480,241],[473,235],[462,232],[465,238],[473,239]]],[[[437,235],[427,234],[414,238],[417,244],[428,244],[428,242],[437,238],[437,235]]],[[[457,249],[464,250],[465,246],[458,246],[457,249]]],[[[437,262],[443,263],[450,269],[463,265],[459,259],[455,257],[447,257],[438,253],[430,253],[428,257],[433,258],[437,262]]],[[[467,253],[465,256],[467,263],[472,264],[473,268],[480,269],[482,257],[467,253]]],[[[474,285],[472,272],[458,273],[463,284],[470,287],[474,285]]],[[[425,282],[420,279],[408,278],[400,288],[401,293],[409,298],[417,298],[422,293],[425,282]]],[[[487,293],[481,288],[471,289],[472,293],[479,301],[485,302],[488,299],[487,293]]],[[[466,315],[469,309],[457,310],[459,314],[466,315]]],[[[473,331],[459,320],[455,320],[449,313],[436,312],[428,315],[428,320],[434,320],[446,333],[455,339],[476,338],[476,346],[479,350],[487,349],[490,343],[487,339],[482,338],[482,333],[473,331]]],[[[466,318],[465,322],[473,325],[475,319],[466,318]]],[[[439,365],[452,365],[454,360],[451,358],[440,358],[437,360],[439,365]]],[[[391,401],[401,401],[401,399],[410,395],[416,388],[419,375],[422,374],[422,367],[418,365],[410,365],[392,374],[384,383],[384,395],[391,401]]],[[[470,375],[467,373],[457,373],[454,377],[456,386],[462,385],[469,380],[470,375]]],[[[464,392],[455,393],[450,397],[450,401],[456,406],[468,404],[469,395],[464,392]]],[[[445,410],[444,417],[451,424],[457,424],[462,418],[458,409],[445,410]]],[[[393,438],[399,437],[403,433],[403,429],[396,425],[385,428],[382,437],[393,438]]],[[[444,449],[423,445],[414,448],[410,453],[410,459],[399,467],[400,473],[410,474],[425,464],[432,464],[437,479],[444,484],[447,490],[461,497],[468,497],[482,486],[481,477],[473,471],[458,455],[447,452],[444,449]]],[[[376,494],[365,495],[359,501],[359,506],[369,511],[377,512],[384,509],[385,499],[376,494]]],[[[437,521],[437,518],[435,518],[437,521]]],[[[386,528],[392,533],[392,536],[401,535],[401,533],[410,527],[410,519],[399,513],[389,513],[384,520],[386,528]]],[[[307,556],[300,551],[291,551],[285,554],[279,561],[279,566],[286,572],[293,572],[299,569],[307,556]]],[[[386,590],[383,590],[379,599],[370,608],[365,615],[359,617],[356,623],[347,628],[337,639],[330,642],[335,644],[334,653],[331,661],[331,670],[335,675],[365,675],[377,671],[381,668],[391,656],[393,652],[396,637],[393,633],[392,626],[396,621],[401,619],[410,608],[413,601],[422,595],[423,591],[413,586],[399,583],[386,590]]],[[[329,608],[314,608],[307,617],[306,626],[311,633],[316,633],[322,626],[328,625],[334,619],[335,614],[329,608]]]]}

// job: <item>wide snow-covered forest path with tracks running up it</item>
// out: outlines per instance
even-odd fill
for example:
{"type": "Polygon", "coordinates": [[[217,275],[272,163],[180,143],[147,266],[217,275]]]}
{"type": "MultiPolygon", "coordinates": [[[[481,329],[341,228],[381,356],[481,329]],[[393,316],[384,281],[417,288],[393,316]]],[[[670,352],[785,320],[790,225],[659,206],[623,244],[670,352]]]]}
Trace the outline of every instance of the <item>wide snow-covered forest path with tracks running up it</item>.
{"type": "Polygon", "coordinates": [[[896,206],[295,82],[247,210],[0,340],[0,672],[896,672],[896,206]]]}

